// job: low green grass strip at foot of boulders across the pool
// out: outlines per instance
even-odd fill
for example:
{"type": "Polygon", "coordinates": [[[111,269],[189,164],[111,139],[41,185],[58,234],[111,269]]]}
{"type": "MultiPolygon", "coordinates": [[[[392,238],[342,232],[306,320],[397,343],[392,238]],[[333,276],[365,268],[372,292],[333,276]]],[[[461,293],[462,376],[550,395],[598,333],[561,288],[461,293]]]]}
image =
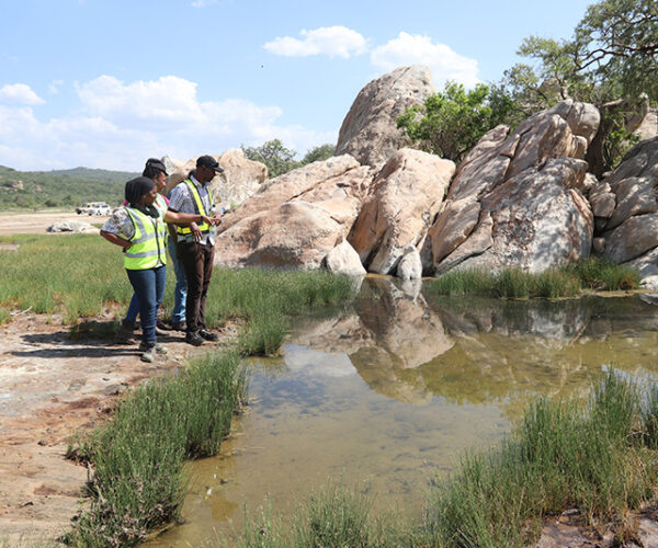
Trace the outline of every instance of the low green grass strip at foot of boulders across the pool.
{"type": "Polygon", "coordinates": [[[490,272],[452,271],[427,284],[439,295],[481,295],[496,298],[576,297],[583,289],[620,290],[639,286],[639,273],[627,266],[590,258],[561,269],[531,274],[520,269],[490,272]]]}

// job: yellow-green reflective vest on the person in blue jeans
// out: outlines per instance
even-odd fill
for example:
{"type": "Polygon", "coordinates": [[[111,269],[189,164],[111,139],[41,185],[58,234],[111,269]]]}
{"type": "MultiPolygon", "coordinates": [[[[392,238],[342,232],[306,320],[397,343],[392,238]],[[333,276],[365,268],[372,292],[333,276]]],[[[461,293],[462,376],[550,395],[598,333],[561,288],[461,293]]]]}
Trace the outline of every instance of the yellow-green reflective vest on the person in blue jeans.
{"type": "MultiPolygon", "coordinates": [[[[158,207],[158,206],[156,206],[158,207]]],[[[158,210],[160,208],[158,207],[158,210]]],[[[131,246],[124,254],[124,266],[129,271],[144,271],[158,264],[167,264],[164,251],[163,215],[157,219],[141,212],[126,206],[126,212],[135,225],[135,233],[131,238],[131,246]]]]}

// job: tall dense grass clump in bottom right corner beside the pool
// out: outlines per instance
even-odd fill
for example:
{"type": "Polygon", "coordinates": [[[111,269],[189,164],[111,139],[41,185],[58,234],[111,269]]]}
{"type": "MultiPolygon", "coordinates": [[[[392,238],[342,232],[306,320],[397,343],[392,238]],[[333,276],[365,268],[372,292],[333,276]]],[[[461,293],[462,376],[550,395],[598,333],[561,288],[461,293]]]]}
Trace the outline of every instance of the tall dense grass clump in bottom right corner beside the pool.
{"type": "Polygon", "coordinates": [[[617,521],[655,498],[651,398],[610,370],[586,404],[538,399],[502,444],[467,454],[434,489],[426,524],[439,546],[527,546],[542,520],[578,507],[591,524],[617,521]],[[645,436],[638,436],[639,429],[645,436]]]}

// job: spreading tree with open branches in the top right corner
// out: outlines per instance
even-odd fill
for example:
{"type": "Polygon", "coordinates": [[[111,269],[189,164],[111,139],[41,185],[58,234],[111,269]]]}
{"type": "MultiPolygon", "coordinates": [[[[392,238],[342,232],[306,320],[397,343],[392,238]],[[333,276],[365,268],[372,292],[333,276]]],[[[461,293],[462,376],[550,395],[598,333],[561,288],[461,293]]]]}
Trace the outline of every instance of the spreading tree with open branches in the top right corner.
{"type": "Polygon", "coordinates": [[[535,66],[515,65],[494,87],[511,111],[530,115],[571,98],[594,104],[601,125],[586,159],[597,175],[614,168],[636,141],[632,118],[658,101],[656,0],[603,0],[588,8],[570,41],[530,36],[519,54],[535,66]]]}

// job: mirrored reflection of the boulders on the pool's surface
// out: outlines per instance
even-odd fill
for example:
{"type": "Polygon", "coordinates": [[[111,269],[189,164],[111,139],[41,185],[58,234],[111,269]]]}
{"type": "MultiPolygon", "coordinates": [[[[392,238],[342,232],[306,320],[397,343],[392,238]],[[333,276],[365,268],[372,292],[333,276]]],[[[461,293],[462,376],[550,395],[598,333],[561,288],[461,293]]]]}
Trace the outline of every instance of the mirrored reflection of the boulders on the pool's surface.
{"type": "Polygon", "coordinates": [[[306,320],[295,342],[349,356],[375,391],[410,403],[574,396],[602,366],[656,370],[658,299],[494,300],[439,297],[420,283],[367,278],[351,310],[306,320]]]}

